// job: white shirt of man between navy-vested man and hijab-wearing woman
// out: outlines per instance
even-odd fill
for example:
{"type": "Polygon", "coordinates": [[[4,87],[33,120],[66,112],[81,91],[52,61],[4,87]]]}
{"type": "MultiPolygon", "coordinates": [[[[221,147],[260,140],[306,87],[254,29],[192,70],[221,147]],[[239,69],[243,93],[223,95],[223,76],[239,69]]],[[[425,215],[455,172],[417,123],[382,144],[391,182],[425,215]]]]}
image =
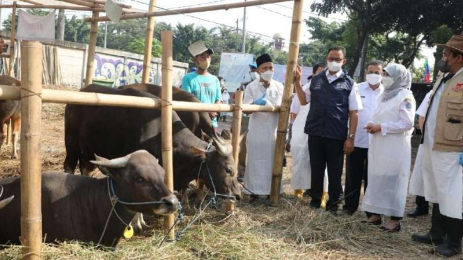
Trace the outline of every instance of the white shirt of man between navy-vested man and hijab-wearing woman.
{"type": "Polygon", "coordinates": [[[377,99],[384,91],[384,88],[382,84],[379,84],[379,87],[373,90],[368,82],[360,83],[358,88],[363,109],[359,111],[359,123],[355,132],[354,147],[368,148],[370,134],[363,128],[372,120],[378,102],[377,99]]]}

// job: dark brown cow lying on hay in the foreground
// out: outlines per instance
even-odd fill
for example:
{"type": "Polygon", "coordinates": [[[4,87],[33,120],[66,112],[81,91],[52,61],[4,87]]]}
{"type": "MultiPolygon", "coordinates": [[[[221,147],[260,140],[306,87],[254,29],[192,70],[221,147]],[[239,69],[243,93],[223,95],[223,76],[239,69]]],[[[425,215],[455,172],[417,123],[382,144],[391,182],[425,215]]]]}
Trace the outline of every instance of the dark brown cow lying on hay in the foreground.
{"type": "MultiPolygon", "coordinates": [[[[42,174],[42,230],[45,242],[79,240],[115,247],[136,212],[170,214],[178,199],[164,184],[164,170],[146,151],[108,160],[96,156],[101,172],[91,177],[45,172],[42,174]]],[[[21,178],[0,181],[0,245],[21,244],[21,178]],[[3,204],[3,205],[2,205],[3,204]]]]}

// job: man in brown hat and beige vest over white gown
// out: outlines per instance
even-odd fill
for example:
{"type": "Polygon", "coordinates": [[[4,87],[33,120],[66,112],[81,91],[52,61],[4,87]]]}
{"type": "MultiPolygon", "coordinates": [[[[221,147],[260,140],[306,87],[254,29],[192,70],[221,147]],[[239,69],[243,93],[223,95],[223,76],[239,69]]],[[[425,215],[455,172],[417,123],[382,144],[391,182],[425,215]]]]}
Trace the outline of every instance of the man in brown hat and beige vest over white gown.
{"type": "Polygon", "coordinates": [[[436,45],[444,47],[437,63],[444,76],[434,84],[421,139],[425,198],[434,206],[430,231],[411,238],[451,257],[461,254],[463,237],[463,35],[436,45]]]}

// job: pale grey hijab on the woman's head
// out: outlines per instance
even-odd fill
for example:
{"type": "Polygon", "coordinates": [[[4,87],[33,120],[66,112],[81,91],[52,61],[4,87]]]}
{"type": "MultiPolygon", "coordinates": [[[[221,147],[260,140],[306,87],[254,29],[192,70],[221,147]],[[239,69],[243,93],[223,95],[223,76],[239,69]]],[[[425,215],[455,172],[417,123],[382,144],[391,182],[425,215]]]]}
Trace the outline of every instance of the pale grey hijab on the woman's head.
{"type": "Polygon", "coordinates": [[[411,88],[411,73],[404,65],[391,63],[384,68],[384,71],[391,76],[394,83],[389,88],[384,88],[382,101],[386,102],[395,97],[401,90],[409,90],[411,88]]]}

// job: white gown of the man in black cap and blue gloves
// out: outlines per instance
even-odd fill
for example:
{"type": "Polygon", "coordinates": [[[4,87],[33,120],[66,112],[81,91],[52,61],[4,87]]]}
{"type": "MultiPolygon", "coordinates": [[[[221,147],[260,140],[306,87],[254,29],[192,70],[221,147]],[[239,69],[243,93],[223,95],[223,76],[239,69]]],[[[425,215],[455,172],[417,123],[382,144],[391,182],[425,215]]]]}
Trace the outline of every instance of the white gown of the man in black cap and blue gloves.
{"type": "MultiPolygon", "coordinates": [[[[265,93],[265,106],[280,106],[283,84],[272,80],[265,88],[258,80],[249,83],[244,90],[244,104],[252,104],[265,93]]],[[[256,195],[269,195],[272,185],[276,128],[278,113],[252,113],[249,118],[249,132],[246,138],[247,165],[244,185],[256,195]]],[[[248,193],[247,190],[243,190],[248,193]]],[[[283,192],[283,186],[281,186],[283,192]]]]}

